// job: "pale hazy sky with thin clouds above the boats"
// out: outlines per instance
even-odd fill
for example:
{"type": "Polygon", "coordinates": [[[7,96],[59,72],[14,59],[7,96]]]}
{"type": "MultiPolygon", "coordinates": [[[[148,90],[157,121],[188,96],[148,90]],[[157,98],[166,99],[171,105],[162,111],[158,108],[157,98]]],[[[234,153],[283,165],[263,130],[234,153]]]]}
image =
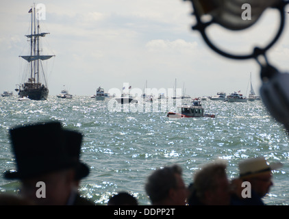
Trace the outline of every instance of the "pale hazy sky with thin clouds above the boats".
{"type": "MultiPolygon", "coordinates": [[[[29,9],[33,1],[2,0],[0,8],[0,92],[13,91],[21,81],[28,55],[29,9]]],[[[185,88],[192,97],[240,90],[249,94],[261,86],[260,67],[254,60],[229,60],[211,51],[197,31],[190,2],[183,0],[42,0],[49,32],[42,41],[50,95],[63,86],[74,95],[123,88],[185,88]]],[[[288,15],[289,16],[289,15],[288,15]]],[[[288,21],[288,18],[286,19],[288,21]]],[[[266,10],[253,27],[228,31],[210,27],[210,37],[234,53],[251,53],[273,38],[279,25],[274,10],[266,10]]],[[[269,61],[280,71],[289,70],[289,36],[286,27],[269,61]]],[[[14,94],[16,92],[14,91],[14,94]]]]}

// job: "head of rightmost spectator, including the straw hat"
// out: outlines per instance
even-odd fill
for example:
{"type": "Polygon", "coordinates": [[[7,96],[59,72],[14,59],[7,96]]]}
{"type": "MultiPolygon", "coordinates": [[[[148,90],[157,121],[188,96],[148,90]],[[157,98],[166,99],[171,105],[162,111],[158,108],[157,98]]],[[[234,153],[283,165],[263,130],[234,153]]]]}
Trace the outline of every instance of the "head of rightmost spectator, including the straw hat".
{"type": "Polygon", "coordinates": [[[242,181],[248,181],[251,189],[263,197],[273,185],[271,170],[280,167],[281,163],[268,165],[264,157],[246,159],[239,164],[240,178],[242,181]]]}

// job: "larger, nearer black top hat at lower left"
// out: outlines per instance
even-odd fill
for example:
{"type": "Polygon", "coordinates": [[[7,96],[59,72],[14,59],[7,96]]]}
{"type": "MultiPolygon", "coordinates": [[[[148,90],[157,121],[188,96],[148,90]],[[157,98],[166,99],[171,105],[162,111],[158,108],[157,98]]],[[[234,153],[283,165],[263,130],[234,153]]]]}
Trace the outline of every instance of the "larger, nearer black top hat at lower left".
{"type": "Polygon", "coordinates": [[[68,153],[67,136],[58,122],[16,127],[10,129],[10,137],[17,170],[6,171],[6,179],[27,179],[66,168],[79,170],[79,162],[68,153]]]}

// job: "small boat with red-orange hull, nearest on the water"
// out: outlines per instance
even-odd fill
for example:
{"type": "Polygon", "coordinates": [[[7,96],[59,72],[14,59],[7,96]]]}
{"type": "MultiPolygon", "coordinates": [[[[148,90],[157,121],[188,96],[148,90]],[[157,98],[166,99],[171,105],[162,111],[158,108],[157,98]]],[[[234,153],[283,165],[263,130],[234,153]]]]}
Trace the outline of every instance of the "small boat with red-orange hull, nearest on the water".
{"type": "Polygon", "coordinates": [[[181,105],[178,107],[179,112],[168,112],[168,118],[190,118],[190,117],[210,117],[215,118],[215,114],[204,114],[204,108],[201,106],[199,99],[194,99],[192,105],[181,105]]]}

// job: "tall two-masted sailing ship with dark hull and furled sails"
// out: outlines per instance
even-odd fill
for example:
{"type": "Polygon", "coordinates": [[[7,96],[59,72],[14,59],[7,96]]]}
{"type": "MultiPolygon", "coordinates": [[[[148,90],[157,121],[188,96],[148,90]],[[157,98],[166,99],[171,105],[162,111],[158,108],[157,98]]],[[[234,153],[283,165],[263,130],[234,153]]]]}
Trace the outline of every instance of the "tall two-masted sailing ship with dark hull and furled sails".
{"type": "Polygon", "coordinates": [[[29,78],[24,84],[18,85],[19,88],[15,89],[18,92],[19,98],[28,96],[32,100],[46,100],[49,94],[47,88],[45,73],[43,71],[42,60],[49,60],[55,55],[41,55],[40,51],[40,38],[45,37],[49,33],[40,32],[39,15],[36,10],[35,4],[29,12],[31,14],[31,33],[25,35],[30,43],[29,55],[20,55],[29,64],[29,78]],[[40,73],[41,72],[41,73],[40,73]],[[40,78],[41,77],[41,78],[40,78]],[[43,81],[41,83],[41,79],[43,81]],[[44,83],[43,83],[44,82],[44,83]]]}

